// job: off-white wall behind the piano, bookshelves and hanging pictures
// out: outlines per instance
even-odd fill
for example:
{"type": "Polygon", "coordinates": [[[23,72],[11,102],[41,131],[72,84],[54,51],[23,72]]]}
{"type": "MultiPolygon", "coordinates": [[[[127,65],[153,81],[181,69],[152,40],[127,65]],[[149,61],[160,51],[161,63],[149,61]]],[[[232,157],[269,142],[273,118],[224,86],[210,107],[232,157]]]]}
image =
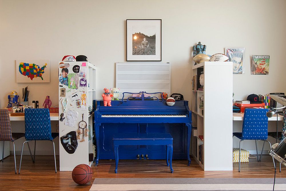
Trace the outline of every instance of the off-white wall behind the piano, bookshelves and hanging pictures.
{"type": "Polygon", "coordinates": [[[83,54],[97,66],[100,98],[104,87],[115,85],[114,63],[126,61],[126,19],[162,19],[162,62],[172,64],[171,91],[186,100],[198,41],[209,55],[246,47],[245,74],[233,77],[235,100],[285,92],[285,8],[284,0],[0,0],[0,107],[11,91],[21,95],[27,85],[29,100],[41,105],[49,95],[56,104],[57,65],[64,55],[83,54]],[[251,55],[270,55],[269,75],[250,75],[251,55]],[[51,82],[16,83],[16,59],[50,59],[51,82]]]}

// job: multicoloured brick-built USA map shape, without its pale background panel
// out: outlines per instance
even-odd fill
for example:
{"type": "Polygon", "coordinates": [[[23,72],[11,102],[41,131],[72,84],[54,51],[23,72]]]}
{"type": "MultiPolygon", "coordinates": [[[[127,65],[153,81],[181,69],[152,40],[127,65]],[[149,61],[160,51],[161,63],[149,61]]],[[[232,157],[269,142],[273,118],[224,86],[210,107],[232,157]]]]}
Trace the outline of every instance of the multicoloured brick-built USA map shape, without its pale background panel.
{"type": "Polygon", "coordinates": [[[39,65],[36,64],[30,64],[30,63],[24,63],[21,62],[19,64],[19,72],[23,76],[27,76],[31,80],[33,78],[40,77],[43,80],[43,73],[45,73],[45,68],[47,67],[47,63],[43,67],[39,67],[39,65]]]}

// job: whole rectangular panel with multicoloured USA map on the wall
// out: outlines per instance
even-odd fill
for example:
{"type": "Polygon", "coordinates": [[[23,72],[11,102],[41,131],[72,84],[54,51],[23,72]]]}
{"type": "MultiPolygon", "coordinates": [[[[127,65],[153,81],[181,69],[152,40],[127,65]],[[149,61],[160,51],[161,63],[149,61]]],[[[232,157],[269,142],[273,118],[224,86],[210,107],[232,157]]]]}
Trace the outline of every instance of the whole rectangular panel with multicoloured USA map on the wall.
{"type": "Polygon", "coordinates": [[[50,60],[16,60],[16,82],[50,82],[50,60]]]}

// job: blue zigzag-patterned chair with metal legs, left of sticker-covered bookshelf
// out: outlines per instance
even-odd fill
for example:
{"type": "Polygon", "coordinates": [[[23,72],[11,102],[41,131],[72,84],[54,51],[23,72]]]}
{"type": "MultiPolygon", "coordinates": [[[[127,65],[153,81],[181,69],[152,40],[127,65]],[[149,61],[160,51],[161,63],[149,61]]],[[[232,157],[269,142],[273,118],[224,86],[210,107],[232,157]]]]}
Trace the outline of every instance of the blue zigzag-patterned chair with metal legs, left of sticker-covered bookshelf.
{"type": "MultiPolygon", "coordinates": [[[[29,141],[35,141],[34,148],[34,158],[32,158],[33,162],[35,162],[35,153],[36,153],[36,141],[37,140],[49,140],[53,142],[53,139],[59,136],[59,133],[51,132],[51,119],[50,112],[48,108],[38,108],[38,109],[25,109],[25,138],[27,141],[23,142],[22,152],[21,152],[21,160],[19,167],[19,174],[21,170],[22,163],[22,155],[23,155],[23,147],[24,144],[29,141]]],[[[54,149],[54,159],[55,159],[55,143],[53,142],[54,149]]],[[[57,166],[55,160],[55,173],[57,173],[57,166]]]]}

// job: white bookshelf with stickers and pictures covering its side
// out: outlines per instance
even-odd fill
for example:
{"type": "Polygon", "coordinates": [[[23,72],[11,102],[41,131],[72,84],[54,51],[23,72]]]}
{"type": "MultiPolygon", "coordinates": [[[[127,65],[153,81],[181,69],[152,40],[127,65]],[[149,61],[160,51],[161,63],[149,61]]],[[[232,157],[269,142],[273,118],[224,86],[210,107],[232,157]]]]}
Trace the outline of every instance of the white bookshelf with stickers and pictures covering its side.
{"type": "Polygon", "coordinates": [[[96,67],[89,62],[59,63],[59,167],[73,170],[78,164],[91,165],[94,153],[92,107],[96,99],[96,67]],[[67,81],[65,73],[67,72],[67,81]],[[84,130],[83,127],[87,127],[84,130]],[[78,130],[80,128],[80,136],[78,130]],[[89,129],[88,133],[85,133],[89,129]],[[84,133],[82,134],[82,131],[84,133]],[[87,135],[87,136],[86,136],[87,135]]]}

